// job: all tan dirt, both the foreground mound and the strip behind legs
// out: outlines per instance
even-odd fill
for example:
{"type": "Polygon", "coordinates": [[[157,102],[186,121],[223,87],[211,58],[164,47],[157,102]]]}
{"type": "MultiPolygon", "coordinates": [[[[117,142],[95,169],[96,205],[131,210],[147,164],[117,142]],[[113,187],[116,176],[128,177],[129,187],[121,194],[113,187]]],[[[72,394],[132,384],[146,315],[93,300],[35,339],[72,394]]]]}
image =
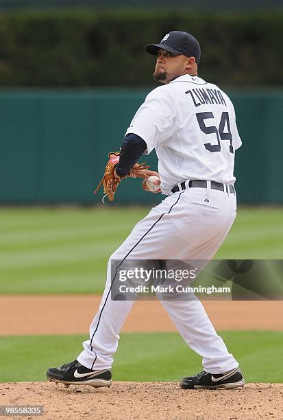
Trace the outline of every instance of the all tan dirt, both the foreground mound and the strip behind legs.
{"type": "MultiPolygon", "coordinates": [[[[85,333],[99,301],[99,296],[1,296],[0,335],[85,333]]],[[[204,306],[217,329],[282,330],[282,302],[206,301],[204,306]]],[[[134,305],[123,331],[175,331],[175,327],[159,302],[142,301],[134,305]]],[[[51,382],[4,383],[0,384],[3,405],[43,406],[39,418],[48,420],[283,420],[283,384],[182,390],[174,382],[113,382],[110,388],[98,389],[51,382]]]]}

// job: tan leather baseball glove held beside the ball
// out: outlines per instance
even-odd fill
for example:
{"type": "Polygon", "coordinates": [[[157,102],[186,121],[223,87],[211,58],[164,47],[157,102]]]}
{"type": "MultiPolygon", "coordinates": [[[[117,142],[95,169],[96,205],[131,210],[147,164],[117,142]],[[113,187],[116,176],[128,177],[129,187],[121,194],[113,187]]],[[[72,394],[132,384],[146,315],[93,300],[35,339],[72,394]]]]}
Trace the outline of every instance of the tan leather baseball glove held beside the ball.
{"type": "Polygon", "coordinates": [[[114,200],[114,195],[116,193],[116,189],[121,183],[122,179],[125,178],[147,178],[147,170],[149,166],[145,166],[145,163],[135,163],[130,172],[122,176],[121,178],[116,178],[114,176],[114,170],[119,163],[120,159],[120,152],[110,152],[108,153],[109,161],[106,165],[105,172],[103,175],[103,178],[101,179],[97,189],[95,189],[95,194],[97,194],[97,191],[103,185],[104,194],[108,196],[110,201],[114,200]]]}

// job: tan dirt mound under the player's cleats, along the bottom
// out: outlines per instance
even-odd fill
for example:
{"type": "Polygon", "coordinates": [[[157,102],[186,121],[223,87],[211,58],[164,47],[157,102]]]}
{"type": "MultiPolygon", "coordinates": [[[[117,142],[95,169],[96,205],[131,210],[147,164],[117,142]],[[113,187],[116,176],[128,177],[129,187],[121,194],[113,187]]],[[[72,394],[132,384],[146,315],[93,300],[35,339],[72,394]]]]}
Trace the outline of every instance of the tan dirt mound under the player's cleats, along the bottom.
{"type": "MultiPolygon", "coordinates": [[[[283,419],[283,384],[182,390],[172,382],[114,382],[110,388],[51,382],[0,384],[1,406],[43,406],[39,419],[283,419]]],[[[13,417],[34,419],[36,417],[13,417]]]]}

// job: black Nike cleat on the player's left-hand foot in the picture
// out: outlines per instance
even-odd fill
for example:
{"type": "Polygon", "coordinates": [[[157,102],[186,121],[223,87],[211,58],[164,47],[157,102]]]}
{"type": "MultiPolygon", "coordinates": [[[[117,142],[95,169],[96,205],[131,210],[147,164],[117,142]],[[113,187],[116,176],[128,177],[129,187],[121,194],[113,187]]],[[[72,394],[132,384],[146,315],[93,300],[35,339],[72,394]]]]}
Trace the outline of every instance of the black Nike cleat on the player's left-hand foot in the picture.
{"type": "Polygon", "coordinates": [[[66,386],[69,385],[91,385],[98,388],[99,386],[110,386],[112,373],[110,369],[102,371],[91,371],[84,367],[77,360],[63,364],[58,368],[48,369],[47,379],[52,382],[59,382],[66,386]]]}

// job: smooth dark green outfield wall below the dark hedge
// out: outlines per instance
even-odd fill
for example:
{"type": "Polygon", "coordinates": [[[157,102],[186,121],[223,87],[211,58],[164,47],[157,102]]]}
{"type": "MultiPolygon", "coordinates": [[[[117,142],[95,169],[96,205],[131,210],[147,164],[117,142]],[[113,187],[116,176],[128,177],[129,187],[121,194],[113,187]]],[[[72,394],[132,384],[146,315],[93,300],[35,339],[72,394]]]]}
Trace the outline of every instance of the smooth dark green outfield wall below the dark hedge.
{"type": "MultiPolygon", "coordinates": [[[[106,154],[121,145],[147,91],[0,93],[0,202],[99,202],[106,154]]],[[[243,147],[236,154],[238,199],[283,202],[283,92],[233,93],[243,147]]],[[[153,152],[154,153],[154,152],[153,152]]],[[[155,154],[145,156],[156,167],[155,154]]],[[[160,196],[125,180],[116,202],[160,196]]]]}

